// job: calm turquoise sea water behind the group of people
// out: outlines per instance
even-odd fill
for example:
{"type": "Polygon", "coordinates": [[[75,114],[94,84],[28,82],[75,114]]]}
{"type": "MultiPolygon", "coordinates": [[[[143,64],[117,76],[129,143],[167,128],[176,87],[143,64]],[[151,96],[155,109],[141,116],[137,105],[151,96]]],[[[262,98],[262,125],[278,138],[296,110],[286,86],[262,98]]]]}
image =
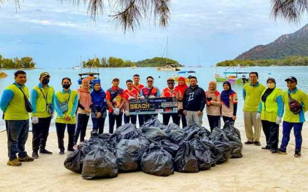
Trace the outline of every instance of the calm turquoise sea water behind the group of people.
{"type": "MultiPolygon", "coordinates": [[[[214,80],[213,67],[203,67],[203,68],[182,68],[182,70],[188,71],[193,70],[197,73],[198,84],[204,90],[207,90],[208,82],[210,80],[214,80]]],[[[225,68],[218,68],[218,73],[222,74],[225,68]]],[[[61,87],[61,79],[63,77],[70,77],[72,79],[72,89],[78,88],[78,73],[80,70],[73,70],[73,69],[35,69],[35,70],[25,70],[27,73],[28,81],[27,86],[29,88],[34,87],[38,83],[38,77],[42,72],[49,72],[51,75],[50,85],[55,88],[56,91],[62,89],[61,87]]],[[[83,69],[83,72],[88,72],[88,69],[83,69]]],[[[234,71],[229,69],[228,71],[234,71]]],[[[259,73],[259,81],[265,84],[266,79],[268,77],[274,77],[277,81],[277,87],[286,90],[286,84],[284,79],[288,76],[295,76],[298,79],[298,88],[308,93],[308,67],[249,67],[240,70],[241,72],[251,72],[257,71],[259,73]]],[[[0,79],[0,95],[2,95],[4,89],[14,81],[13,73],[15,70],[5,70],[5,73],[8,74],[7,78],[0,79]]],[[[92,72],[97,72],[97,69],[92,69],[92,72]]],[[[166,87],[166,79],[171,77],[172,75],[176,75],[177,72],[169,72],[169,71],[156,71],[155,68],[113,68],[113,69],[99,69],[100,78],[102,82],[102,87],[106,91],[108,88],[111,87],[111,79],[113,77],[120,78],[120,87],[125,89],[125,81],[127,79],[131,79],[133,74],[140,74],[141,76],[141,83],[146,84],[145,80],[146,77],[151,75],[154,77],[155,86],[159,87],[161,90],[166,87]]],[[[222,91],[222,82],[218,82],[217,84],[218,90],[222,91]]],[[[242,106],[243,106],[243,99],[242,99],[242,84],[234,84],[233,90],[238,93],[239,96],[239,108],[238,108],[238,120],[237,123],[242,123],[242,106]]],[[[306,119],[308,115],[306,114],[306,119]]],[[[160,115],[161,118],[161,115],[160,115]]],[[[205,116],[203,117],[203,125],[207,127],[207,119],[205,116]]],[[[89,121],[91,123],[91,121],[89,121]]],[[[52,124],[54,126],[54,124],[52,124]]],[[[108,126],[108,120],[106,120],[106,125],[108,126]]],[[[0,130],[4,129],[4,121],[0,120],[0,130]]]]}

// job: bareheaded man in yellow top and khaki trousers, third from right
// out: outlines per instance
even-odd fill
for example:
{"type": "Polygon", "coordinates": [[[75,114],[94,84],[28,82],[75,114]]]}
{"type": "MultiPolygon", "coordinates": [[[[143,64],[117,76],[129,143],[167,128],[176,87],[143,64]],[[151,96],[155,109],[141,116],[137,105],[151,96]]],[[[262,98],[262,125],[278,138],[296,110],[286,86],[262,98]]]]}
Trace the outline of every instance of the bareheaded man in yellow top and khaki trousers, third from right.
{"type": "Polygon", "coordinates": [[[244,126],[247,138],[245,144],[254,143],[257,146],[260,146],[261,120],[259,116],[257,116],[257,112],[259,109],[261,95],[266,88],[263,84],[259,83],[259,75],[257,72],[249,73],[249,79],[251,82],[246,83],[243,88],[244,126]]]}

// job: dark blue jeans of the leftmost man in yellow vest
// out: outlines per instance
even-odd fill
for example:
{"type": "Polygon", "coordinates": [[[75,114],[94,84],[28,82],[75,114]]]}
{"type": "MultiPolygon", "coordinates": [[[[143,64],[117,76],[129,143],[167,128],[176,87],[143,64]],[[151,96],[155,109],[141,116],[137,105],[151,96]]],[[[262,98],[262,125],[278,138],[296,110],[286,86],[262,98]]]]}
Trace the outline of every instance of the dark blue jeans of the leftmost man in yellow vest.
{"type": "Polygon", "coordinates": [[[8,136],[8,157],[10,160],[27,156],[25,144],[29,133],[29,120],[7,120],[6,131],[8,136]]]}

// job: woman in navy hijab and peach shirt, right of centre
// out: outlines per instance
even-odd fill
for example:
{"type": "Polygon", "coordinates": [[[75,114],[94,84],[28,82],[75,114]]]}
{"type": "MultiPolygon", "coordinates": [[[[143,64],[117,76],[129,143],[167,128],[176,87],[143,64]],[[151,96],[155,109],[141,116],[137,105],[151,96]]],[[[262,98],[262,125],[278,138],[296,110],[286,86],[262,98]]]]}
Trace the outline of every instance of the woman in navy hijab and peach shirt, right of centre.
{"type": "Polygon", "coordinates": [[[234,122],[236,120],[237,93],[232,90],[229,81],[225,81],[222,84],[223,91],[221,92],[221,115],[223,122],[229,121],[234,122]]]}

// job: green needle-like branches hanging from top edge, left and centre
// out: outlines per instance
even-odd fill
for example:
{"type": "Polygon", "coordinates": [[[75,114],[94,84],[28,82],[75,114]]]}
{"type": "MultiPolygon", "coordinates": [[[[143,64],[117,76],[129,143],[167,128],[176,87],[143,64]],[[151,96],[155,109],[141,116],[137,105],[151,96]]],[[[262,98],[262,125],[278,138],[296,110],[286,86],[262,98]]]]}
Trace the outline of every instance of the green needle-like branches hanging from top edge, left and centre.
{"type": "MultiPolygon", "coordinates": [[[[15,2],[16,11],[20,9],[20,3],[25,0],[0,0],[0,4],[5,2],[15,2]]],[[[141,26],[141,22],[147,18],[153,18],[156,23],[159,18],[160,27],[168,25],[170,17],[170,0],[58,0],[59,2],[68,2],[79,6],[83,3],[87,5],[87,13],[95,22],[95,18],[104,15],[104,7],[108,5],[111,14],[108,15],[110,21],[116,28],[122,28],[126,31],[134,31],[141,26]]]]}

